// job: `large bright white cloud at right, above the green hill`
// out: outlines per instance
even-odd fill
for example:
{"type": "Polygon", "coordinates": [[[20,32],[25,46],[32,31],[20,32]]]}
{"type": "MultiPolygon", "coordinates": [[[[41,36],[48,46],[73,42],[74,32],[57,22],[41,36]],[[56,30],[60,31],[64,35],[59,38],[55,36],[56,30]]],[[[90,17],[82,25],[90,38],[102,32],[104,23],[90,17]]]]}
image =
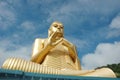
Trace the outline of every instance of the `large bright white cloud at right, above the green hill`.
{"type": "Polygon", "coordinates": [[[120,63],[120,42],[101,43],[94,53],[88,53],[82,58],[83,69],[93,69],[113,63],[120,63]]]}

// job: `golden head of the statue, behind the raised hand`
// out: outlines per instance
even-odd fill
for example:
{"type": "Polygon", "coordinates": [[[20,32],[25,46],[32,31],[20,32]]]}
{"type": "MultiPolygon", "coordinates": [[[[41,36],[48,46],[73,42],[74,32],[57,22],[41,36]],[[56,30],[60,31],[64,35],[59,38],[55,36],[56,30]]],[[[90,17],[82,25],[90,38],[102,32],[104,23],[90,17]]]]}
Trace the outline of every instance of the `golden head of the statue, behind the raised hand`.
{"type": "Polygon", "coordinates": [[[48,30],[48,37],[50,37],[51,36],[51,34],[53,33],[53,32],[56,32],[57,31],[57,33],[59,33],[58,34],[58,36],[59,37],[64,37],[64,35],[63,35],[63,24],[61,23],[61,22],[58,22],[58,21],[55,21],[55,22],[53,22],[52,24],[51,24],[51,26],[50,26],[50,28],[49,28],[49,30],[48,30]]]}

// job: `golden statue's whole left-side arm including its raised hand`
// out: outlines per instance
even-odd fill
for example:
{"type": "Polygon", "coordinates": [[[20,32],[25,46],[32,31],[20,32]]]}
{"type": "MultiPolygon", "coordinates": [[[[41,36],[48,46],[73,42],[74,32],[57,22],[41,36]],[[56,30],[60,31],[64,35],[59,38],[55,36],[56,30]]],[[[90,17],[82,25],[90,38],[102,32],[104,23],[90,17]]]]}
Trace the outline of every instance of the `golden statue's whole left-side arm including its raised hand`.
{"type": "Polygon", "coordinates": [[[54,32],[48,39],[44,40],[43,42],[39,39],[35,40],[34,48],[33,48],[33,55],[31,61],[41,63],[48,52],[57,46],[60,42],[62,42],[62,38],[56,40],[55,37],[57,33],[54,32]],[[41,47],[42,46],[42,47],[41,47]]]}

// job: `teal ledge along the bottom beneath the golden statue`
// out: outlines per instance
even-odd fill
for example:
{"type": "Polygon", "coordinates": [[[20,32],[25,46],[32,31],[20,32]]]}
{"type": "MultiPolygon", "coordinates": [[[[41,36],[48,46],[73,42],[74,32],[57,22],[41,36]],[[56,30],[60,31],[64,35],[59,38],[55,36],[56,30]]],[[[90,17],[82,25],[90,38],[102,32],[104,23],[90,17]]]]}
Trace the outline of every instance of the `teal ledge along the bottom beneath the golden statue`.
{"type": "Polygon", "coordinates": [[[0,80],[120,80],[120,78],[51,75],[0,69],[0,80]]]}

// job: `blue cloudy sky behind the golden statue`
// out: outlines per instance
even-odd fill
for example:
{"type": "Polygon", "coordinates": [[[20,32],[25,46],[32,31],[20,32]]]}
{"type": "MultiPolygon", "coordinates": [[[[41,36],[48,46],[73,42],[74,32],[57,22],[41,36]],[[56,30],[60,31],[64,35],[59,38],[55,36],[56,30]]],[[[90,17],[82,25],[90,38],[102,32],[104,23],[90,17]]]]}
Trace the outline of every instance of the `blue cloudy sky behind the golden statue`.
{"type": "Polygon", "coordinates": [[[120,62],[120,0],[0,0],[0,66],[9,57],[29,60],[53,21],[64,24],[83,69],[120,62]]]}

